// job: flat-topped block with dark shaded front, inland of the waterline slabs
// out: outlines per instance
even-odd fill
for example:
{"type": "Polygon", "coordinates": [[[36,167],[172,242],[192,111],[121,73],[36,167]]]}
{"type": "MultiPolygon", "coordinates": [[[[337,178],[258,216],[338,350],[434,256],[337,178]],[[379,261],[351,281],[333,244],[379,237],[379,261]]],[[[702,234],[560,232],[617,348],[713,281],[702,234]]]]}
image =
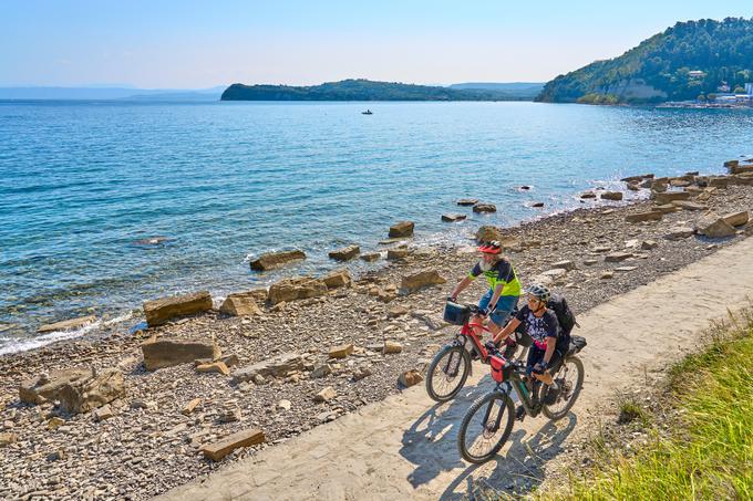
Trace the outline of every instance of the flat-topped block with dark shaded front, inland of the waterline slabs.
{"type": "Polygon", "coordinates": [[[223,354],[214,340],[162,337],[142,343],[147,370],[187,364],[196,358],[216,361],[223,354]]]}

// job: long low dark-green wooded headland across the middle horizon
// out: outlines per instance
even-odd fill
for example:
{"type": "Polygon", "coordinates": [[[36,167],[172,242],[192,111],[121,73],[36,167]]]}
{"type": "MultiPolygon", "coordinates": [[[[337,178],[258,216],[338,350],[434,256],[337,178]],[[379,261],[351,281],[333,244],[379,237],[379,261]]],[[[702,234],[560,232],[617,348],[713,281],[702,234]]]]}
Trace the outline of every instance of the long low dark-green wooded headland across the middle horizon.
{"type": "Polygon", "coordinates": [[[343,80],[321,85],[233,84],[223,101],[510,101],[510,94],[494,88],[452,88],[370,80],[343,80]]]}

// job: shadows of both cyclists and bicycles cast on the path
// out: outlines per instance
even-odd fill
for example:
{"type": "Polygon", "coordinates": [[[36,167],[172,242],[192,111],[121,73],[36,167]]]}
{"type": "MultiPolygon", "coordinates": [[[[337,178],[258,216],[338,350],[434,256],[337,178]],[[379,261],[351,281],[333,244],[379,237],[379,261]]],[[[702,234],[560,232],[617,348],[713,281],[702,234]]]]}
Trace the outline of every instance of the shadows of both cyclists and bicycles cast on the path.
{"type": "MultiPolygon", "coordinates": [[[[563,451],[561,445],[575,429],[577,417],[570,413],[557,424],[547,420],[533,436],[516,421],[497,458],[484,465],[468,465],[457,450],[457,430],[471,404],[493,388],[492,377],[485,375],[474,387],[463,388],[451,403],[426,410],[403,432],[400,455],[415,465],[408,477],[414,489],[461,469],[440,499],[475,499],[479,486],[520,494],[541,483],[546,462],[563,451]],[[486,474],[476,476],[479,468],[486,474]],[[456,492],[464,482],[466,487],[456,492]]],[[[536,418],[540,419],[545,418],[536,418]]]]}

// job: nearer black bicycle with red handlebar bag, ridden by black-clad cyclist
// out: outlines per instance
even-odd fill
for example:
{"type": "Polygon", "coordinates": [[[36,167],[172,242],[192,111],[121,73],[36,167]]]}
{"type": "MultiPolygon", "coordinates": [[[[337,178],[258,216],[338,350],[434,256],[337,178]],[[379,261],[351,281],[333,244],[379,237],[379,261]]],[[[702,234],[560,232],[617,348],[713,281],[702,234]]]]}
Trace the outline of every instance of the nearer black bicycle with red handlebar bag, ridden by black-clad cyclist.
{"type": "Polygon", "coordinates": [[[547,395],[548,386],[540,383],[532,385],[532,394],[524,362],[504,358],[493,344],[487,343],[486,347],[492,352],[488,363],[496,386],[474,401],[463,417],[457,435],[457,448],[463,459],[474,463],[486,462],[505,445],[515,421],[515,407],[510,397],[513,389],[526,415],[536,417],[544,414],[553,421],[564,418],[582,388],[584,364],[576,354],[585,346],[584,337],[573,336],[567,354],[553,370],[558,394],[547,395]]]}

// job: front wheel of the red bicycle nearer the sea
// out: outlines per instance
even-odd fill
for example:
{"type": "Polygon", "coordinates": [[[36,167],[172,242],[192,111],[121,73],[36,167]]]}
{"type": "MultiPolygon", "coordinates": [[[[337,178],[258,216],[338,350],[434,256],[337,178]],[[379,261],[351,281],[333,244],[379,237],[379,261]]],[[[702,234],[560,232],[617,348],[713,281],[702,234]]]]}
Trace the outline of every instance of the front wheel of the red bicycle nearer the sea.
{"type": "Polygon", "coordinates": [[[457,395],[468,378],[471,355],[463,346],[443,347],[426,369],[426,393],[435,401],[447,401],[457,395]]]}

